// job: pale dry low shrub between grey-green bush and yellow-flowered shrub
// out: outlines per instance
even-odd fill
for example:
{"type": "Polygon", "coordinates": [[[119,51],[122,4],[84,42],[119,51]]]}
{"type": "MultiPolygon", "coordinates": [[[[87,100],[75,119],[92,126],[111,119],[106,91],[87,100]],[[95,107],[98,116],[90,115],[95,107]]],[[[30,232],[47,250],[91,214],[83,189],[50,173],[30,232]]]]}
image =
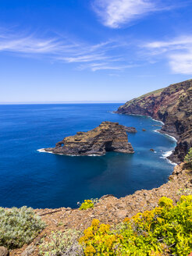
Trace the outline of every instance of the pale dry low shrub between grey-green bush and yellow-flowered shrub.
{"type": "Polygon", "coordinates": [[[75,229],[66,229],[66,231],[55,232],[42,241],[39,246],[39,254],[44,256],[80,256],[84,255],[83,247],[78,243],[80,231],[75,229]]]}

